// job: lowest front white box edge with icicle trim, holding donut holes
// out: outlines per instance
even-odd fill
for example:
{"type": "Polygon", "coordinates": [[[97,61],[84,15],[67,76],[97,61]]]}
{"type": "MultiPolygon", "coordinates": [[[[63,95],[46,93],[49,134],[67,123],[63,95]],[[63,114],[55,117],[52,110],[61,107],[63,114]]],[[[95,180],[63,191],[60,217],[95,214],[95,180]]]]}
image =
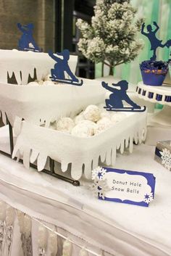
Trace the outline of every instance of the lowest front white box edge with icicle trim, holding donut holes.
{"type": "Polygon", "coordinates": [[[38,170],[41,171],[47,157],[51,157],[61,162],[63,172],[71,163],[72,178],[81,178],[83,169],[86,178],[91,178],[91,170],[99,165],[99,157],[101,162],[114,165],[117,149],[123,153],[129,146],[132,152],[133,141],[141,143],[146,139],[146,112],[128,113],[125,119],[111,128],[89,138],[43,128],[20,118],[14,122],[14,133],[17,141],[12,157],[22,157],[26,168],[29,168],[30,162],[37,160],[38,170]]]}

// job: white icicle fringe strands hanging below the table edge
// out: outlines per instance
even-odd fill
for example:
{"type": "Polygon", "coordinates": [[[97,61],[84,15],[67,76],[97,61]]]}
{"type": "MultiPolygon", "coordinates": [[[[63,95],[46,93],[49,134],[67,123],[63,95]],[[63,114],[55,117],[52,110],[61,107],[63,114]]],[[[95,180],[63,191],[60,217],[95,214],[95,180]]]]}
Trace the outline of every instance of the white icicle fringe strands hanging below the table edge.
{"type": "MultiPolygon", "coordinates": [[[[88,256],[88,252],[94,256],[102,256],[96,252],[93,252],[91,249],[83,247],[75,241],[68,239],[66,236],[55,231],[54,228],[51,229],[49,226],[46,226],[45,223],[41,222],[36,218],[32,218],[26,215],[20,210],[14,210],[13,207],[7,207],[7,204],[0,202],[0,223],[4,221],[4,232],[3,232],[3,251],[0,252],[0,256],[10,256],[12,248],[12,238],[13,238],[13,226],[15,213],[17,215],[18,223],[20,226],[20,233],[22,235],[22,247],[25,251],[24,256],[32,256],[32,244],[31,241],[31,220],[35,220],[38,224],[38,256],[46,256],[47,249],[47,231],[49,231],[49,252],[51,256],[57,255],[58,243],[57,237],[62,237],[64,239],[62,256],[71,256],[72,255],[72,244],[75,244],[76,247],[80,248],[78,256],[88,256]],[[5,237],[4,237],[5,235],[5,237]],[[26,238],[26,239],[25,239],[26,238]],[[26,240],[26,241],[25,241],[26,240]],[[27,242],[28,240],[28,242],[27,242]]],[[[1,239],[1,226],[0,226],[0,239],[1,239]]]]}

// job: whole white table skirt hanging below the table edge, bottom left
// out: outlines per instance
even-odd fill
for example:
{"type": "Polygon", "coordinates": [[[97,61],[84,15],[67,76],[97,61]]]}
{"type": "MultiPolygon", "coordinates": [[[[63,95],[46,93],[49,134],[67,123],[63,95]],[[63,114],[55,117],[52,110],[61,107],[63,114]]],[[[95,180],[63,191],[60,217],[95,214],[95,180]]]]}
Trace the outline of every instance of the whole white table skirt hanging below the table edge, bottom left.
{"type": "Polygon", "coordinates": [[[2,256],[102,255],[101,249],[92,247],[91,244],[86,245],[86,241],[63,228],[30,217],[5,202],[1,201],[0,207],[2,256]]]}

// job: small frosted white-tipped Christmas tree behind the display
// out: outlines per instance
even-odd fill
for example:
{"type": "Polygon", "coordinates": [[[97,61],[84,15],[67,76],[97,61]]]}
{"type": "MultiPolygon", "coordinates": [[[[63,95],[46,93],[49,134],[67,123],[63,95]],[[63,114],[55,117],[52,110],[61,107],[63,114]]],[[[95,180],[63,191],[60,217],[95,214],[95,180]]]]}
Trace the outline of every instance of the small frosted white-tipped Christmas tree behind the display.
{"type": "Polygon", "coordinates": [[[87,59],[108,65],[112,75],[115,66],[135,59],[143,48],[136,38],[143,19],[135,21],[130,0],[96,0],[94,13],[91,25],[81,19],[76,23],[82,35],[78,49],[87,59]]]}

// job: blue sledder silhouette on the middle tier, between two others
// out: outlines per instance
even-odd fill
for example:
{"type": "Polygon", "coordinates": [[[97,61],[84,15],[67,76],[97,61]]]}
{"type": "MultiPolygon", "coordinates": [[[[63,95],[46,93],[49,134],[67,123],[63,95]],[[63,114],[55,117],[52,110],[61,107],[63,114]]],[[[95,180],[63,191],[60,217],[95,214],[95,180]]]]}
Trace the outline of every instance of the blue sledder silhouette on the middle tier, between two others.
{"type": "Polygon", "coordinates": [[[62,52],[57,52],[54,54],[49,51],[49,56],[54,59],[57,63],[54,65],[54,69],[51,69],[51,80],[59,83],[68,83],[72,86],[82,86],[83,80],[78,80],[75,75],[70,70],[68,60],[70,59],[70,51],[64,49],[62,52]],[[57,55],[62,56],[62,58],[57,57],[57,55]],[[70,76],[70,78],[65,78],[64,73],[70,76]]]}

